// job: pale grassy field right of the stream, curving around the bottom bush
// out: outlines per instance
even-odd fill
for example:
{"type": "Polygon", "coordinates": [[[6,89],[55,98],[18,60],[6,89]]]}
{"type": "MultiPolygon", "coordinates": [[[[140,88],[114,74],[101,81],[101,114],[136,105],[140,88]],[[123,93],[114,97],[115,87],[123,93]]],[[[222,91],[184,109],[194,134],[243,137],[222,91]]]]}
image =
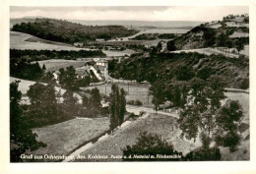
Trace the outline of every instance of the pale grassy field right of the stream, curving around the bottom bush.
{"type": "MultiPolygon", "coordinates": [[[[188,149],[195,148],[194,145],[189,145],[179,138],[180,130],[177,129],[176,120],[172,117],[161,115],[150,115],[148,118],[139,118],[133,121],[129,126],[118,130],[114,134],[110,135],[107,139],[96,144],[94,147],[88,149],[81,155],[88,154],[100,154],[100,155],[122,155],[122,149],[126,145],[134,145],[142,132],[149,132],[158,134],[162,139],[167,140],[168,143],[172,143],[175,149],[179,151],[187,152],[188,149]]],[[[121,159],[85,159],[77,161],[120,161],[121,159]]]]}

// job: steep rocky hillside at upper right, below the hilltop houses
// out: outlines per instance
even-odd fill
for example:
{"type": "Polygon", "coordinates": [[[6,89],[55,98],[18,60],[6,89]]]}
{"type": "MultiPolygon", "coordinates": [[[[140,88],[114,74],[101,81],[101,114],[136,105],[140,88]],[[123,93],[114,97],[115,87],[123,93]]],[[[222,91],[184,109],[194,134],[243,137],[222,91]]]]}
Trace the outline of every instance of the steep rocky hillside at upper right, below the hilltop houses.
{"type": "Polygon", "coordinates": [[[249,28],[246,23],[230,26],[230,22],[218,22],[215,25],[202,24],[167,43],[169,51],[197,49],[204,47],[228,47],[238,51],[249,44],[249,28]]]}

